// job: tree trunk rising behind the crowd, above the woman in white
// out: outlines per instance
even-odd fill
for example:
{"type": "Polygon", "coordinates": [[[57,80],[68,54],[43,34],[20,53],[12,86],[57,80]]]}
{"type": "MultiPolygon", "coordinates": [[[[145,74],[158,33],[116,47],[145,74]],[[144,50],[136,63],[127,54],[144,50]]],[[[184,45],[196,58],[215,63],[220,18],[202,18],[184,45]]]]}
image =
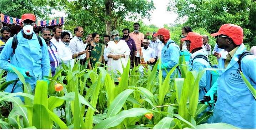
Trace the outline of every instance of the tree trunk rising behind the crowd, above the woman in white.
{"type": "Polygon", "coordinates": [[[104,3],[105,3],[106,34],[110,35],[112,31],[112,10],[114,7],[114,3],[113,3],[113,0],[104,0],[104,3]]]}

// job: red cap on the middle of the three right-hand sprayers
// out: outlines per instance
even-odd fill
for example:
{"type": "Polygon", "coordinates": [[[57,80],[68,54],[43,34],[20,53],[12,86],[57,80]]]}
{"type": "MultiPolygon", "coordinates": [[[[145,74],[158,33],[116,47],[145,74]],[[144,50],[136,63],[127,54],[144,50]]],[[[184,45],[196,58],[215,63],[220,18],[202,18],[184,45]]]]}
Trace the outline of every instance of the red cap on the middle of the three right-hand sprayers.
{"type": "Polygon", "coordinates": [[[187,37],[181,38],[181,41],[189,40],[190,41],[190,52],[193,49],[203,46],[203,36],[196,32],[189,32],[187,37]]]}

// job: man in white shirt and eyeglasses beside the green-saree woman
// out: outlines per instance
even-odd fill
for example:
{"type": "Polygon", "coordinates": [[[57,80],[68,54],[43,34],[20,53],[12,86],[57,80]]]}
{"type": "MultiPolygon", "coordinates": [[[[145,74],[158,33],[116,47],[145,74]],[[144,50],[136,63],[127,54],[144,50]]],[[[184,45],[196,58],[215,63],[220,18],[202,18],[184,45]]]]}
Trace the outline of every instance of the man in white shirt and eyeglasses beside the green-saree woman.
{"type": "Polygon", "coordinates": [[[82,41],[82,37],[84,35],[84,29],[81,26],[77,26],[74,29],[75,36],[70,40],[69,48],[72,54],[78,53],[78,59],[80,59],[80,64],[84,65],[86,62],[86,52],[88,52],[88,48],[85,49],[84,42],[82,41]]]}

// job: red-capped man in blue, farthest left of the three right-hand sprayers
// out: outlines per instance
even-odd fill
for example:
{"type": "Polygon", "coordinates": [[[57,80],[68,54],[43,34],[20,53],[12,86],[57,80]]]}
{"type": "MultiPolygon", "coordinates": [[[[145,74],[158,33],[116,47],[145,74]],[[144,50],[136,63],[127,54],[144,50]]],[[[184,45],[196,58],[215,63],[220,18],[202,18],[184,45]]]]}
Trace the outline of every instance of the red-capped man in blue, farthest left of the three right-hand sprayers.
{"type": "MultiPolygon", "coordinates": [[[[153,36],[157,36],[158,39],[164,43],[161,54],[161,65],[158,65],[157,69],[166,68],[167,71],[163,69],[162,72],[162,76],[165,78],[167,73],[179,63],[180,48],[173,40],[170,39],[170,32],[166,28],[160,28],[153,36]]],[[[177,73],[178,70],[179,69],[177,68],[176,72],[172,73],[171,78],[174,77],[174,74],[177,73]]],[[[178,73],[180,77],[180,72],[178,73]]]]}

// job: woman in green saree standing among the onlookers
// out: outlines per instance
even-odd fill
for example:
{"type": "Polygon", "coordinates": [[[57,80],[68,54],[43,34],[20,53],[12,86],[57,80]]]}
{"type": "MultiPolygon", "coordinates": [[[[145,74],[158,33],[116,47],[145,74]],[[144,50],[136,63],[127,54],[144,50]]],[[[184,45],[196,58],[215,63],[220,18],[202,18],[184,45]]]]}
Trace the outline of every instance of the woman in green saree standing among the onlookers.
{"type": "MultiPolygon", "coordinates": [[[[95,66],[97,62],[105,63],[103,52],[105,45],[100,44],[100,35],[97,32],[92,33],[92,42],[90,43],[90,50],[91,52],[86,53],[86,59],[90,58],[88,62],[89,69],[92,70],[92,68],[95,66]]],[[[97,66],[100,66],[98,64],[97,66]]]]}

